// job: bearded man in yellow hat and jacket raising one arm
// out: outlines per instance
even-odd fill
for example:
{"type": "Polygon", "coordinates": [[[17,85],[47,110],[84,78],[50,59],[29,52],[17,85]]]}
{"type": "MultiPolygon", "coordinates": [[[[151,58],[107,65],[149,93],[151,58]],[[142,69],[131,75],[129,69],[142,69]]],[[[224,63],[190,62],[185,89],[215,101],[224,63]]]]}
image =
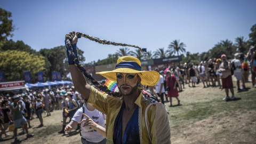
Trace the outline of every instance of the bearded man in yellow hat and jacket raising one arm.
{"type": "MultiPolygon", "coordinates": [[[[69,33],[66,39],[76,49],[77,33],[69,33]]],[[[100,74],[117,82],[122,97],[103,94],[86,83],[85,77],[74,62],[69,59],[69,67],[75,89],[93,107],[107,115],[107,143],[171,143],[171,132],[167,111],[162,103],[153,103],[141,93],[142,85],[153,86],[159,81],[156,71],[141,71],[140,60],[121,57],[112,71],[100,74]]]]}

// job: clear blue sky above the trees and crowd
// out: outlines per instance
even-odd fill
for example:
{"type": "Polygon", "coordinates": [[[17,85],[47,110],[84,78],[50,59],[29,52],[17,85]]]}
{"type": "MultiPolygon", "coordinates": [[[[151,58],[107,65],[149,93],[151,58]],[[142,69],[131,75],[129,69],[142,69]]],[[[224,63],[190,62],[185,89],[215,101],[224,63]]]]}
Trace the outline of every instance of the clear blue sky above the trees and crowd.
{"type": "MultiPolygon", "coordinates": [[[[12,12],[12,39],[32,49],[64,45],[65,35],[80,31],[108,41],[147,47],[156,51],[175,39],[191,53],[210,50],[236,37],[249,39],[256,23],[256,1],[5,1],[12,12]]],[[[107,58],[121,46],[102,45],[81,38],[85,62],[107,58]]],[[[129,47],[130,50],[135,50],[129,47]]]]}

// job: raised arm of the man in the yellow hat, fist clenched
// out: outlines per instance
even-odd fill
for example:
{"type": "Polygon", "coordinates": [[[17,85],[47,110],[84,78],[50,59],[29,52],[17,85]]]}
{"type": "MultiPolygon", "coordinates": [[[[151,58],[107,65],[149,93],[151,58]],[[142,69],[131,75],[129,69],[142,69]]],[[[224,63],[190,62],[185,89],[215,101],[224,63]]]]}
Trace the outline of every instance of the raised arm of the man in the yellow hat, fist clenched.
{"type": "Polygon", "coordinates": [[[73,58],[77,58],[77,51],[76,51],[76,43],[77,43],[77,34],[75,31],[69,33],[66,35],[65,40],[70,39],[72,42],[72,49],[70,47],[67,47],[67,56],[68,56],[68,63],[70,68],[70,73],[72,76],[72,81],[74,83],[75,89],[81,93],[81,95],[85,98],[85,100],[89,99],[91,86],[86,83],[84,75],[81,73],[81,71],[76,66],[75,62],[73,61],[73,58]],[[74,52],[74,56],[70,55],[70,51],[74,52]]]}

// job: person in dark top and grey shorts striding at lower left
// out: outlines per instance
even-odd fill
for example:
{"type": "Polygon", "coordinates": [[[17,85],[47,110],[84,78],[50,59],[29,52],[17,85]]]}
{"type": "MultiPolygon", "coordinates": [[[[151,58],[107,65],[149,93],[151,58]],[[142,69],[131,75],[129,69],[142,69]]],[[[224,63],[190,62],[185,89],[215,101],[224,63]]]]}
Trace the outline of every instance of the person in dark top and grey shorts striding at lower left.
{"type": "Polygon", "coordinates": [[[14,122],[14,131],[13,131],[14,142],[20,141],[17,138],[17,130],[22,125],[24,126],[25,131],[27,133],[27,138],[32,137],[34,134],[28,133],[28,124],[27,124],[26,118],[22,115],[21,110],[23,109],[23,106],[22,106],[20,97],[18,95],[13,96],[13,102],[11,103],[10,108],[12,110],[13,122],[14,122]]]}

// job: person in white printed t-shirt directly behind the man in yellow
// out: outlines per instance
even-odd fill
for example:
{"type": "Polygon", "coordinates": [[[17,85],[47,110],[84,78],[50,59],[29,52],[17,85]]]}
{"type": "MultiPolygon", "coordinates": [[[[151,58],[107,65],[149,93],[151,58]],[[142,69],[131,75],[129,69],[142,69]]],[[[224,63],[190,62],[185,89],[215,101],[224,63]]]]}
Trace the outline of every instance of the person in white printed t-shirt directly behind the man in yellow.
{"type": "Polygon", "coordinates": [[[86,103],[84,107],[76,111],[70,123],[65,127],[65,132],[70,132],[77,124],[81,124],[82,143],[106,143],[105,116],[86,103]]]}

